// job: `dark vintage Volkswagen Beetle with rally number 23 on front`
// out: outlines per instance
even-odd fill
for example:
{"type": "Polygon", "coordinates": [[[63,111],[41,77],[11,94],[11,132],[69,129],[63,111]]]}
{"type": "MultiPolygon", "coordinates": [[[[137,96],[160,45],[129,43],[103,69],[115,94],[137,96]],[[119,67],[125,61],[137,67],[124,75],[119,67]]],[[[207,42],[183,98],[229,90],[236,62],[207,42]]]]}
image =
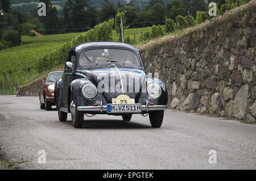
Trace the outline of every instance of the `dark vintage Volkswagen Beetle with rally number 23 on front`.
{"type": "Polygon", "coordinates": [[[59,120],[67,121],[71,112],[75,128],[82,127],[84,115],[116,115],[130,121],[135,113],[148,114],[152,127],[159,128],[168,96],[162,81],[146,75],[137,48],[92,42],[69,49],[54,99],[59,120]]]}

